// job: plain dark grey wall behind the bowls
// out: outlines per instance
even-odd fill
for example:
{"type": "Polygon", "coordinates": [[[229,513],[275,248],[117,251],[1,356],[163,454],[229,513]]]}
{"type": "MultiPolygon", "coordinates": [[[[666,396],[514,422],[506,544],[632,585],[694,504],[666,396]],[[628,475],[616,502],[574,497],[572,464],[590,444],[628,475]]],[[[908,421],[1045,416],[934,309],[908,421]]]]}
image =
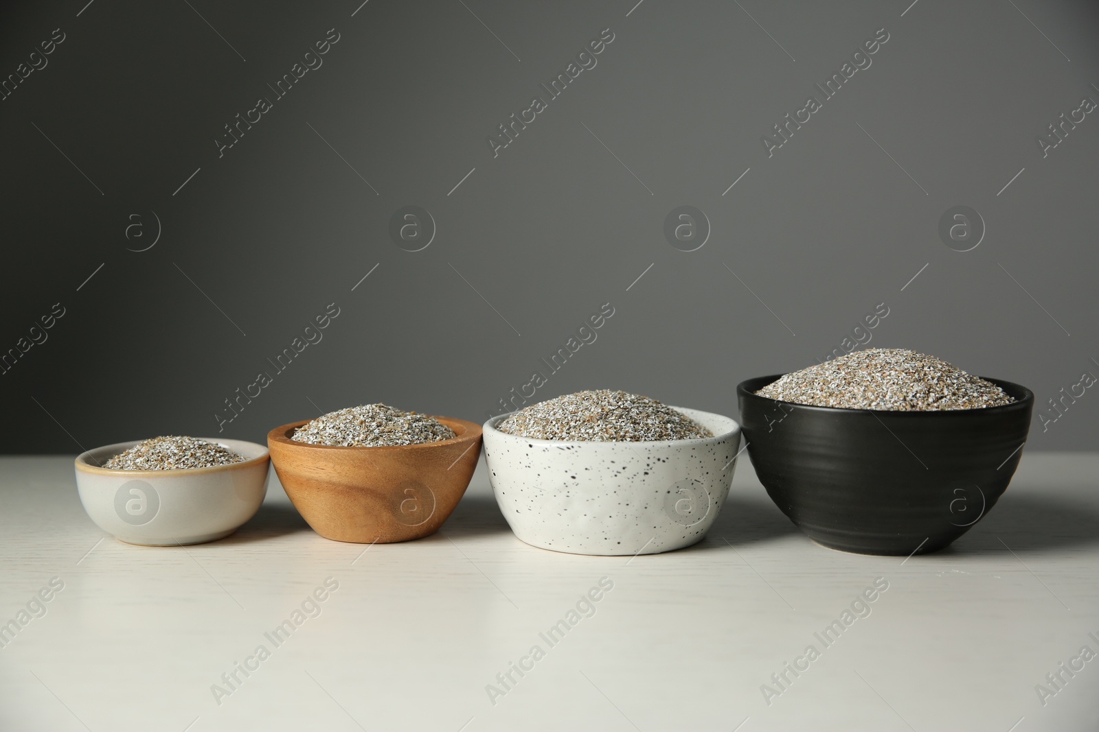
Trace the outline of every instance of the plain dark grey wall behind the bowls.
{"type": "Polygon", "coordinates": [[[1031,449],[1094,448],[1095,390],[1037,415],[1099,375],[1099,113],[1046,157],[1035,136],[1099,101],[1095,3],[634,2],[5,3],[4,78],[65,40],[0,101],[0,349],[65,315],[0,376],[3,450],[218,435],[260,371],[223,436],[375,401],[479,421],[603,303],[534,401],[735,414],[739,381],[815,363],[886,303],[870,345],[1023,383],[1031,449]],[[768,158],[761,137],[882,27],[768,158]],[[597,66],[493,158],[486,137],[603,29],[597,66]],[[421,251],[389,236],[406,205],[435,222],[421,251]],[[696,251],[664,236],[679,205],[710,222],[696,251]],[[970,251],[940,239],[955,205],[985,222],[970,251]]]}

